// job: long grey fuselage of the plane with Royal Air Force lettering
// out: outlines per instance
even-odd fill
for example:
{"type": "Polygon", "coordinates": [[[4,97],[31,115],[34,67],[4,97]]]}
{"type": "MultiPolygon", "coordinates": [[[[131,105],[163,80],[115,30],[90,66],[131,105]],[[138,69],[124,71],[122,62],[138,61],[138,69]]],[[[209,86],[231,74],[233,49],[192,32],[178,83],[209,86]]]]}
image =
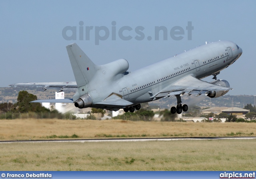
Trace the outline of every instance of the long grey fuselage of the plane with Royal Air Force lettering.
{"type": "Polygon", "coordinates": [[[106,93],[116,93],[134,104],[152,101],[154,95],[180,78],[193,76],[202,79],[216,74],[234,63],[241,54],[242,49],[234,42],[212,42],[134,72],[120,74],[122,78],[111,83],[90,82],[90,88],[96,89],[94,93],[88,93],[93,100],[92,107],[104,108],[104,105],[94,103],[108,97],[100,95],[106,93]]]}

